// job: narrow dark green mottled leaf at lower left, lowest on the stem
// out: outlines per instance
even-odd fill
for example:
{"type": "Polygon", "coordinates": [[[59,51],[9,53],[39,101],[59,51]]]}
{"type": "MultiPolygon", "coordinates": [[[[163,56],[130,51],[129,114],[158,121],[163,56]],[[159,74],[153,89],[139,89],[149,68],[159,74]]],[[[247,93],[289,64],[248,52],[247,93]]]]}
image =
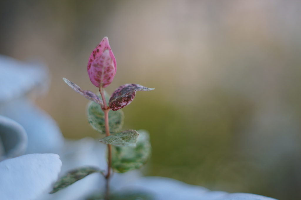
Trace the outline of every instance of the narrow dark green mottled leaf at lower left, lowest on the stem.
{"type": "Polygon", "coordinates": [[[96,167],[79,167],[77,169],[74,169],[67,174],[65,174],[63,177],[61,177],[53,186],[53,190],[49,192],[50,194],[53,194],[61,189],[64,189],[71,184],[75,183],[78,180],[81,180],[82,178],[88,176],[89,174],[101,172],[100,169],[96,167]]]}

